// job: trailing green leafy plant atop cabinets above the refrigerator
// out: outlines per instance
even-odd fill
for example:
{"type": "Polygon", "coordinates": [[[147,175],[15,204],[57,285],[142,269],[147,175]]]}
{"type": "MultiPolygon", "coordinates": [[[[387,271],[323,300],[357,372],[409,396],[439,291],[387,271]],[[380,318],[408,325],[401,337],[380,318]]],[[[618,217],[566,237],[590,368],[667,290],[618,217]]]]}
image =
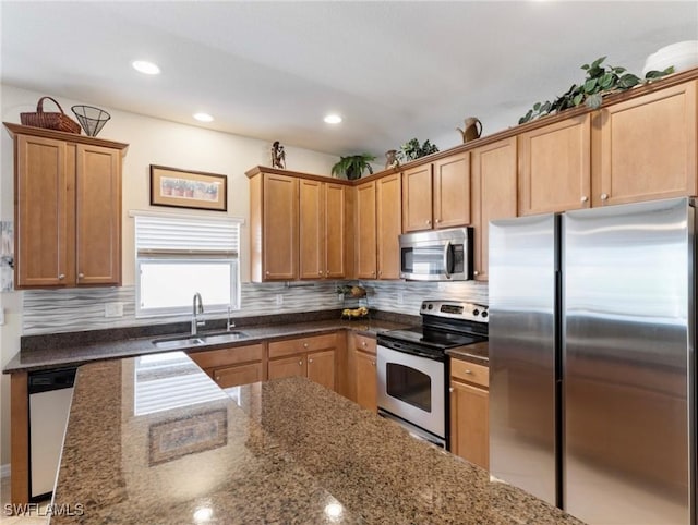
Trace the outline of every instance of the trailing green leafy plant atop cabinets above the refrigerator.
{"type": "Polygon", "coordinates": [[[589,108],[598,109],[601,107],[604,95],[625,91],[639,84],[655,81],[674,72],[674,68],[670,66],[664,71],[648,71],[645,78],[640,78],[633,73],[628,73],[625,68],[602,65],[606,57],[601,57],[591,62],[591,64],[583,64],[581,69],[587,72],[587,77],[582,84],[573,84],[564,95],[561,95],[552,102],[550,100],[535,102],[533,107],[519,119],[519,124],[546,114],[575,108],[582,102],[589,108]]]}

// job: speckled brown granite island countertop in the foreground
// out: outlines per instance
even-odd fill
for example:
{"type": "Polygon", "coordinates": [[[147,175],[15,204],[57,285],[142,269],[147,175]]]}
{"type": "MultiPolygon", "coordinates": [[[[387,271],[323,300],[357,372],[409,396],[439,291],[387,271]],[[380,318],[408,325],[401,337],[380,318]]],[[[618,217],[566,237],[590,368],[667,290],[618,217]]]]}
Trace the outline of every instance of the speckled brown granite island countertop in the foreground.
{"type": "Polygon", "coordinates": [[[165,357],[79,369],[51,523],[581,523],[305,378],[165,357]]]}

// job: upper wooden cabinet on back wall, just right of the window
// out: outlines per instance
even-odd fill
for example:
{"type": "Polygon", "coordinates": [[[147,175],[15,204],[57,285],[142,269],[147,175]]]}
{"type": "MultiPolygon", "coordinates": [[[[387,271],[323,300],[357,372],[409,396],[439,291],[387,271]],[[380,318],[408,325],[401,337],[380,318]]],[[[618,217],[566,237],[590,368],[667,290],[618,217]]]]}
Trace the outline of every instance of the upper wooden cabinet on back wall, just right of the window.
{"type": "Polygon", "coordinates": [[[344,279],[353,240],[348,184],[272,168],[246,174],[252,280],[344,279]]]}

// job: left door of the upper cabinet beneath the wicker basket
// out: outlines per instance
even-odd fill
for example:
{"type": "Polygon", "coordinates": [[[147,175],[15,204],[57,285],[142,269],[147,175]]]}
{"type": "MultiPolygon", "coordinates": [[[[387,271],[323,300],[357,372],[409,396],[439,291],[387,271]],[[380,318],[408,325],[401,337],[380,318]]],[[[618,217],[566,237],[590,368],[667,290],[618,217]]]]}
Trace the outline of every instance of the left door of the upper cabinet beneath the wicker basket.
{"type": "Polygon", "coordinates": [[[68,268],[69,257],[73,257],[67,244],[74,195],[68,162],[64,142],[17,135],[14,190],[17,289],[74,282],[68,268]]]}

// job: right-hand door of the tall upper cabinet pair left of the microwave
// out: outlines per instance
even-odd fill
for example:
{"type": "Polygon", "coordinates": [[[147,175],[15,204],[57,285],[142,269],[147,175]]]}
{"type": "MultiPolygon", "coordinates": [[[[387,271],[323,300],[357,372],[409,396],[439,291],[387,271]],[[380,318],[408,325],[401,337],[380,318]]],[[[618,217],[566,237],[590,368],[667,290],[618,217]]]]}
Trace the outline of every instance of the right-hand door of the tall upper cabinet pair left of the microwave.
{"type": "Polygon", "coordinates": [[[400,175],[376,181],[376,235],[378,279],[399,279],[401,233],[400,175]]]}

